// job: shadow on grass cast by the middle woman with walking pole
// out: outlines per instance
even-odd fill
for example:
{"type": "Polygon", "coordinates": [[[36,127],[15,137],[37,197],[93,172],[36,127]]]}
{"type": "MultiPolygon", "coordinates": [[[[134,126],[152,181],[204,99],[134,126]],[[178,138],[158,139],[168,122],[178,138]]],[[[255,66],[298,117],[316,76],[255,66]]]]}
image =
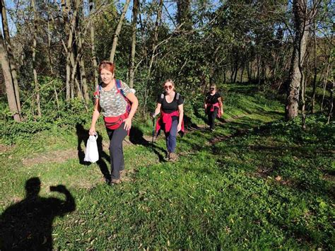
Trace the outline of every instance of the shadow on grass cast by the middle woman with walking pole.
{"type": "Polygon", "coordinates": [[[164,156],[160,153],[161,151],[165,151],[165,149],[157,146],[154,141],[148,141],[144,139],[143,132],[139,127],[131,127],[129,132],[129,141],[134,145],[145,146],[146,148],[151,148],[152,151],[158,156],[160,162],[166,162],[164,156]]]}

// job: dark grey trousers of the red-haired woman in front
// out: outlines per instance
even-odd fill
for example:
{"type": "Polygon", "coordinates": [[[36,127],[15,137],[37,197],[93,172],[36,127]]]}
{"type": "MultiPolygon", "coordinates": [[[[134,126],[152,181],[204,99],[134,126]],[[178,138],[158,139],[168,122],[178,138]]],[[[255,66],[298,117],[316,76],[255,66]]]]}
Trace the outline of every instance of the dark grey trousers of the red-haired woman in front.
{"type": "Polygon", "coordinates": [[[107,128],[110,138],[110,166],[112,180],[119,180],[120,171],[124,170],[124,156],[122,141],[128,132],[124,129],[124,122],[115,130],[107,128]]]}

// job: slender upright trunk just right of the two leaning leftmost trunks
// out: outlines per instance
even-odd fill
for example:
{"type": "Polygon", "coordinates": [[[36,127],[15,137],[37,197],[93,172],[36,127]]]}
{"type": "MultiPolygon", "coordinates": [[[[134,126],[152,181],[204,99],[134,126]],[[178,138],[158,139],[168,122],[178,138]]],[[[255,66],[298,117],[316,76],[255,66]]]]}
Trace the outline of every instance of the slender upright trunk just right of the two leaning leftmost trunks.
{"type": "Polygon", "coordinates": [[[37,80],[37,70],[36,70],[36,45],[37,45],[37,11],[35,8],[35,0],[31,0],[31,5],[34,11],[34,34],[33,34],[33,74],[35,82],[35,95],[36,95],[36,105],[37,105],[37,116],[41,117],[41,103],[40,103],[40,86],[37,80]]]}

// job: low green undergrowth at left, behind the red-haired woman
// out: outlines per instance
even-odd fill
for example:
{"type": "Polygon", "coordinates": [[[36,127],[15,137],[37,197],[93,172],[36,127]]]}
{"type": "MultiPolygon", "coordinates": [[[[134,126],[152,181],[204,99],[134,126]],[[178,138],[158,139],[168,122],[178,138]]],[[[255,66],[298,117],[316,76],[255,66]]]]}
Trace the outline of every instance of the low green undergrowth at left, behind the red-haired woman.
{"type": "Polygon", "coordinates": [[[76,124],[86,124],[90,121],[91,112],[86,111],[83,100],[74,99],[66,101],[64,96],[59,95],[58,103],[55,98],[55,90],[61,88],[61,81],[52,78],[40,78],[40,103],[42,116],[35,113],[35,104],[28,102],[33,97],[23,93],[26,102],[23,103],[23,122],[15,122],[11,112],[4,102],[0,112],[0,126],[3,128],[1,141],[6,144],[16,143],[18,139],[29,139],[37,132],[52,129],[52,127],[75,127],[76,124]],[[55,109],[55,107],[57,107],[55,109]]]}

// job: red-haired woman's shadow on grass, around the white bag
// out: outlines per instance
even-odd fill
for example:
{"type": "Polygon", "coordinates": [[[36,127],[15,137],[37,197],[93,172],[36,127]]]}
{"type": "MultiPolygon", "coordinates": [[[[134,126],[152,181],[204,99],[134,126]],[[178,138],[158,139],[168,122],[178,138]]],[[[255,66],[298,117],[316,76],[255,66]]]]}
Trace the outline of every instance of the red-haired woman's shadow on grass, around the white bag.
{"type": "MultiPolygon", "coordinates": [[[[79,163],[81,163],[81,165],[90,165],[89,162],[84,161],[85,152],[83,151],[83,148],[81,148],[82,143],[84,143],[85,146],[87,144],[87,140],[89,137],[88,130],[84,129],[82,124],[77,123],[76,124],[76,134],[78,138],[77,149],[78,149],[79,163]]],[[[97,164],[100,168],[100,172],[105,178],[105,181],[110,182],[110,171],[108,170],[107,164],[105,162],[105,160],[107,160],[107,163],[110,163],[110,156],[108,156],[105,153],[105,151],[102,150],[102,135],[98,136],[97,145],[98,145],[98,152],[99,152],[99,160],[97,161],[97,164]]]]}

